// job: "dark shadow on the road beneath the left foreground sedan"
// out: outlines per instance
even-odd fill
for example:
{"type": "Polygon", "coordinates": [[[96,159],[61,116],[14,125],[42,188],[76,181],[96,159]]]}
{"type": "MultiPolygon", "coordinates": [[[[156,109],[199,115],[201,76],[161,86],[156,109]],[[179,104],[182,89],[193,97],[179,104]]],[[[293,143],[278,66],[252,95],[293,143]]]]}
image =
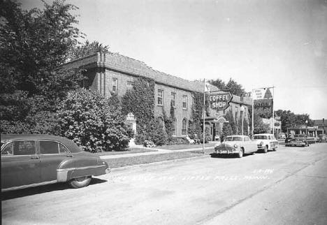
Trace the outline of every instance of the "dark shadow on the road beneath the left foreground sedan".
{"type": "MultiPolygon", "coordinates": [[[[89,185],[101,184],[103,182],[108,182],[108,181],[92,177],[92,180],[89,183],[89,185]]],[[[21,198],[25,196],[32,196],[34,194],[43,194],[52,191],[62,191],[65,189],[71,189],[71,187],[69,187],[67,183],[56,183],[56,184],[42,185],[38,187],[29,187],[26,189],[19,189],[15,191],[1,192],[1,201],[14,199],[14,198],[21,198]]]]}

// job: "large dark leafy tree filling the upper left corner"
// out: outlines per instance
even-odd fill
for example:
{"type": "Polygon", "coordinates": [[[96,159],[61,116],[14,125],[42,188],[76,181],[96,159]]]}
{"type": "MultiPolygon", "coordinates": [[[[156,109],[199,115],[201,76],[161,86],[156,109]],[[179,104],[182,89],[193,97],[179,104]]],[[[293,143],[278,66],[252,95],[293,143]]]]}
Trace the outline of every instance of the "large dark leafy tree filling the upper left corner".
{"type": "MultiPolygon", "coordinates": [[[[2,6],[1,93],[22,90],[31,96],[61,86],[61,81],[68,79],[57,68],[80,37],[80,31],[73,26],[78,20],[71,14],[76,7],[61,0],[52,5],[44,2],[43,10],[22,10],[10,0],[3,1],[2,6]]],[[[69,79],[75,85],[80,77],[69,79]]]]}

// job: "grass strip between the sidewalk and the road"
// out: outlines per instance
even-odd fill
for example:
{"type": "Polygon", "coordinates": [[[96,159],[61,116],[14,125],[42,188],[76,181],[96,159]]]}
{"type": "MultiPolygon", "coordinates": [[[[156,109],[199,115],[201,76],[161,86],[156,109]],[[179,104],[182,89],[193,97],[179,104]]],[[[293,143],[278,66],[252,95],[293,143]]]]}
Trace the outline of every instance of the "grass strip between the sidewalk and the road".
{"type": "Polygon", "coordinates": [[[191,152],[170,152],[163,154],[150,154],[138,157],[125,157],[118,159],[103,159],[108,162],[110,168],[118,168],[123,166],[133,166],[138,164],[150,164],[158,161],[169,161],[174,159],[186,159],[191,157],[202,157],[203,155],[211,154],[212,150],[196,150],[191,152]]]}

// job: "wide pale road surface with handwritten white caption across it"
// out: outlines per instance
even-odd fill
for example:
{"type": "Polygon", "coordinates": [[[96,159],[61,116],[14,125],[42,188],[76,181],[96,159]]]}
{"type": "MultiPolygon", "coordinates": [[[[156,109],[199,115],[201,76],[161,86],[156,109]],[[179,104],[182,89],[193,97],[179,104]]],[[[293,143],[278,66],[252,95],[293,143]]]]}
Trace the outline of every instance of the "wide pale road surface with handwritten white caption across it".
{"type": "Polygon", "coordinates": [[[2,224],[327,224],[327,143],[115,170],[1,195],[2,224]]]}

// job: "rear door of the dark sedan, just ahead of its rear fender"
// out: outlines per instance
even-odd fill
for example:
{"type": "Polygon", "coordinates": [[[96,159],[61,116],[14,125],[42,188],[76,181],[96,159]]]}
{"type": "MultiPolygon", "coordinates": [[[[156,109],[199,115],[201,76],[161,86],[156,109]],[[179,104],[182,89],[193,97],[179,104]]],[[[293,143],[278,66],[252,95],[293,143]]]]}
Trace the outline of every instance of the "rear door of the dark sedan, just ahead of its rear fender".
{"type": "Polygon", "coordinates": [[[73,155],[67,147],[54,140],[39,140],[41,159],[41,180],[49,182],[57,180],[57,168],[62,161],[73,155]]]}

